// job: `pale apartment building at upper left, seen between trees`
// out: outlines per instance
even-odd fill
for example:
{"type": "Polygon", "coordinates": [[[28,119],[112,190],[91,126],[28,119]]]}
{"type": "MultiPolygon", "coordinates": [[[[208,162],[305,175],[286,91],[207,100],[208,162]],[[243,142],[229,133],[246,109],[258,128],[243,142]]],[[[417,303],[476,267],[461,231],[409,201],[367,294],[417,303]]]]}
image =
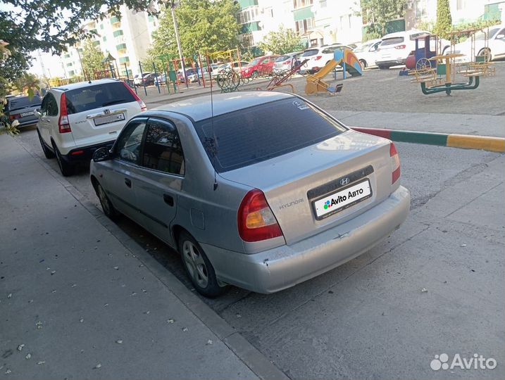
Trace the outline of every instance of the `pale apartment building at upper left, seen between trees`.
{"type": "MultiPolygon", "coordinates": [[[[120,7],[121,17],[107,15],[102,20],[89,21],[83,25],[85,30],[97,33],[94,44],[104,53],[116,60],[115,67],[120,75],[139,73],[139,61],[147,55],[152,43],[152,33],[158,27],[158,19],[146,12],[136,12],[126,6],[120,7]]],[[[61,57],[66,77],[82,75],[80,55],[84,42],[69,46],[61,57]]]]}

